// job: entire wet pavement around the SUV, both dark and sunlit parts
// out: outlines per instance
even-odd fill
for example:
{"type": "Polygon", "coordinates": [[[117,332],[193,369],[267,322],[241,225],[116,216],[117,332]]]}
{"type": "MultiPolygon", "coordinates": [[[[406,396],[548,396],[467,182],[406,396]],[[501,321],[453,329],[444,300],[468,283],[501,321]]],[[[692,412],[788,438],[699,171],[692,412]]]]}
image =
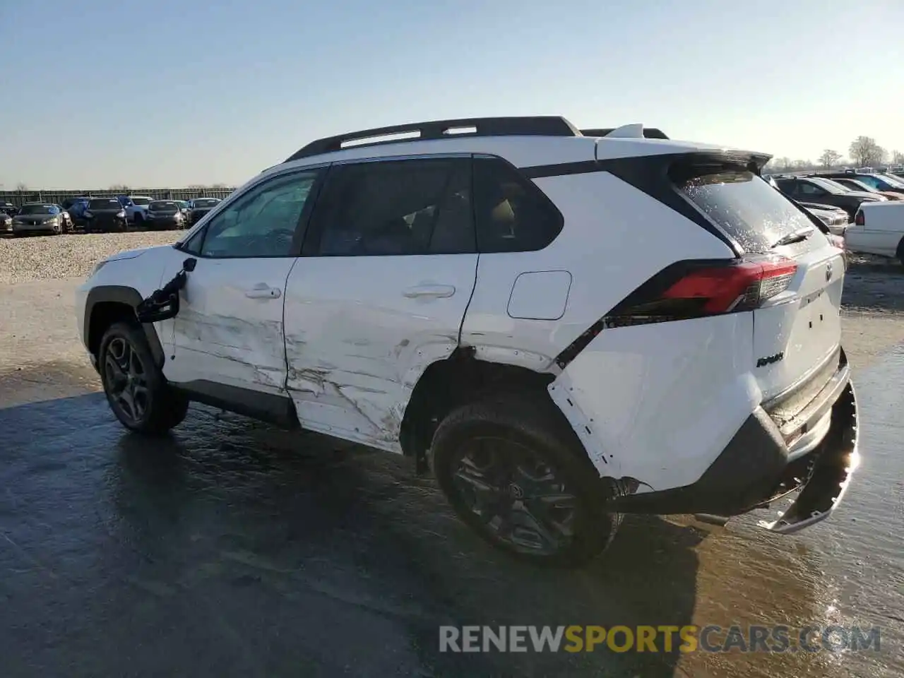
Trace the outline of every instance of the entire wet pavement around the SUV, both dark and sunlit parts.
{"type": "Polygon", "coordinates": [[[485,546],[398,457],[202,407],[149,442],[100,394],[56,397],[86,379],[45,368],[54,400],[0,410],[0,675],[904,673],[901,347],[855,373],[863,464],[828,521],[629,516],[579,571],[485,546]],[[879,625],[881,648],[438,652],[443,624],[732,623],[879,625]]]}

